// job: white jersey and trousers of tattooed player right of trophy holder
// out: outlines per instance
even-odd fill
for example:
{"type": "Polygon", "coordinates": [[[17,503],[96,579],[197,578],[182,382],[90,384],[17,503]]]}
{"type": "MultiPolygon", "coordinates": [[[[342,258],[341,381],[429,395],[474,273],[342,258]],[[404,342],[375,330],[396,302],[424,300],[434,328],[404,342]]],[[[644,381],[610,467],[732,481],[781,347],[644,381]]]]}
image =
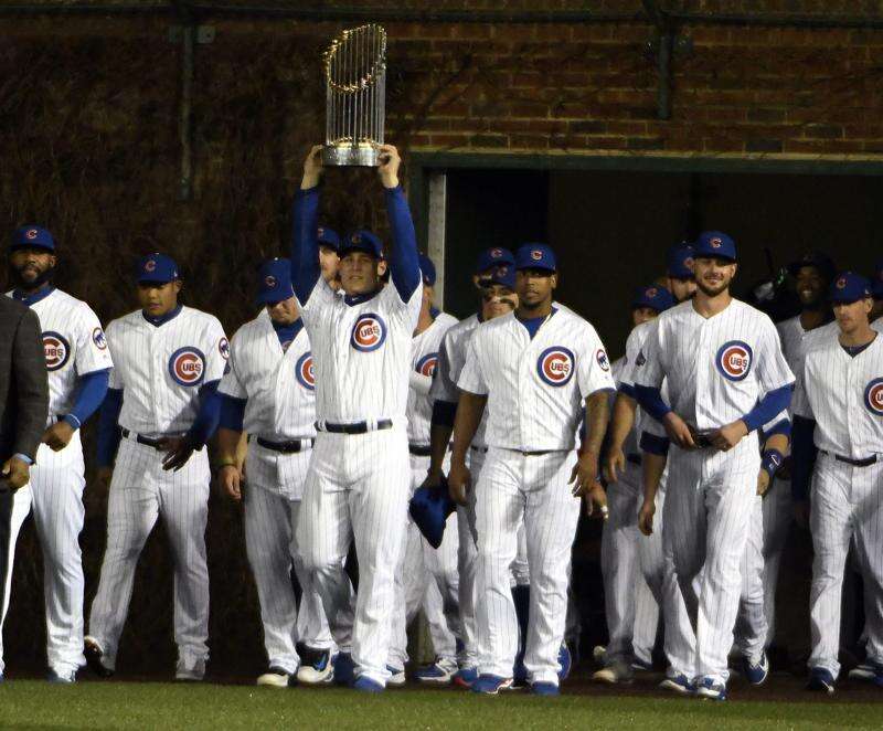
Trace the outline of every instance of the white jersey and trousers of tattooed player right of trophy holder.
{"type": "Polygon", "coordinates": [[[567,483],[584,400],[613,390],[595,329],[558,309],[533,338],[513,315],[481,325],[458,381],[486,394],[489,451],[476,487],[479,670],[511,677],[518,625],[509,569],[524,522],[531,573],[524,667],[531,682],[557,685],[571,545],[579,500],[567,483]]]}

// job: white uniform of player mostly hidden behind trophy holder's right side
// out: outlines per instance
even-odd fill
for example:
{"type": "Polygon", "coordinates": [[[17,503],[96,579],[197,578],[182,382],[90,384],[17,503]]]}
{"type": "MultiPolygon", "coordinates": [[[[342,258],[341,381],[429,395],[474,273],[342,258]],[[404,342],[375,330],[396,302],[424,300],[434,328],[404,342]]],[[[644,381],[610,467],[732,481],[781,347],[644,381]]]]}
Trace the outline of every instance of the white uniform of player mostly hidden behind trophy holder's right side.
{"type": "MultiPolygon", "coordinates": [[[[429,469],[429,422],[433,402],[429,388],[438,363],[438,349],[456,318],[439,312],[433,324],[414,336],[411,354],[411,388],[407,395],[407,441],[411,449],[411,494],[429,469]]],[[[403,537],[395,576],[395,610],[390,644],[390,666],[403,669],[407,661],[407,625],[423,606],[436,657],[456,664],[460,635],[459,581],[457,575],[457,513],[448,518],[442,545],[436,550],[421,536],[411,516],[403,537]],[[429,579],[433,579],[430,582],[429,579]]]]}

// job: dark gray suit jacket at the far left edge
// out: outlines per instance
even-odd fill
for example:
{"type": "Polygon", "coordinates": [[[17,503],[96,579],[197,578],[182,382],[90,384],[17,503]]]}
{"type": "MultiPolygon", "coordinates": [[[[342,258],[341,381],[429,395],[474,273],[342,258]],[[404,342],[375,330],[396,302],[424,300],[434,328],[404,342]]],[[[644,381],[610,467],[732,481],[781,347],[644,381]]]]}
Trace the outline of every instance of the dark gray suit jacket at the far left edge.
{"type": "Polygon", "coordinates": [[[36,457],[46,426],[49,385],[40,319],[0,295],[0,463],[36,457]]]}

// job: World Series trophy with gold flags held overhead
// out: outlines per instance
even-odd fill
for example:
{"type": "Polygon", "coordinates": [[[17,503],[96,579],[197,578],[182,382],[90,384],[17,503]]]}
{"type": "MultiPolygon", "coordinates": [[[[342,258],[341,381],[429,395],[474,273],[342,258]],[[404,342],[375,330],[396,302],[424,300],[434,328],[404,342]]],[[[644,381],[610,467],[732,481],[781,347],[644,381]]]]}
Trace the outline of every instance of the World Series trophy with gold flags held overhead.
{"type": "Polygon", "coordinates": [[[386,31],[369,24],[343,31],[325,54],[322,162],[377,166],[386,120],[386,31]]]}

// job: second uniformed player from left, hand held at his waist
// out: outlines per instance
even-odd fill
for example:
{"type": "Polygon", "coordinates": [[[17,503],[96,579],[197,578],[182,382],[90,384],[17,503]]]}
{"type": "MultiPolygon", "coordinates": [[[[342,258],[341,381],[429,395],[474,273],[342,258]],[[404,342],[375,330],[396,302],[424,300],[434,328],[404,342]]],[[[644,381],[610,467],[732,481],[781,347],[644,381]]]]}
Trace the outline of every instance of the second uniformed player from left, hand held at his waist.
{"type": "Polygon", "coordinates": [[[182,282],[170,256],[142,257],[136,276],[141,308],[107,327],[114,370],[99,423],[102,478],[111,463],[114,468],[85,655],[97,675],[114,672],[138,555],[161,516],[174,558],[175,678],[202,680],[209,658],[211,481],[203,446],[217,425],[217,384],[230,345],[217,318],[179,304],[182,282]]]}

